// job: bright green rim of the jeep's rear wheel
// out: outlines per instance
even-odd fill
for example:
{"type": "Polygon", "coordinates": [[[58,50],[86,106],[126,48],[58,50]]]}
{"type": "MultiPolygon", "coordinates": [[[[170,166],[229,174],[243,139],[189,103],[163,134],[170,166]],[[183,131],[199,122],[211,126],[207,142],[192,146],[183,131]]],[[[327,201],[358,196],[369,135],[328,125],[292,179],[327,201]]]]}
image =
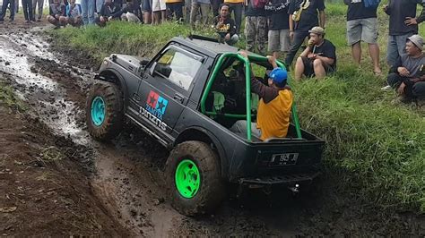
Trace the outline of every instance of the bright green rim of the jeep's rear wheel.
{"type": "Polygon", "coordinates": [[[192,160],[185,159],[176,169],[176,186],[181,196],[186,199],[195,197],[201,186],[201,174],[192,160]]]}

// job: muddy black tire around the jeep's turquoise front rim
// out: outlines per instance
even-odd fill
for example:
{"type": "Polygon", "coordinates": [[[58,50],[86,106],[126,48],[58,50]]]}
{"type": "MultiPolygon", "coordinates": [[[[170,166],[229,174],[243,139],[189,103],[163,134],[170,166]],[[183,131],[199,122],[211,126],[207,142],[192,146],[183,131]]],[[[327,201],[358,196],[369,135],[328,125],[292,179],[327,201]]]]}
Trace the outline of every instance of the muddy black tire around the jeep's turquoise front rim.
{"type": "Polygon", "coordinates": [[[91,137],[95,140],[111,140],[123,127],[123,97],[117,85],[110,82],[98,82],[93,85],[86,102],[86,123],[91,137]],[[94,98],[100,97],[105,103],[105,118],[97,126],[91,119],[91,104],[94,98]]]}

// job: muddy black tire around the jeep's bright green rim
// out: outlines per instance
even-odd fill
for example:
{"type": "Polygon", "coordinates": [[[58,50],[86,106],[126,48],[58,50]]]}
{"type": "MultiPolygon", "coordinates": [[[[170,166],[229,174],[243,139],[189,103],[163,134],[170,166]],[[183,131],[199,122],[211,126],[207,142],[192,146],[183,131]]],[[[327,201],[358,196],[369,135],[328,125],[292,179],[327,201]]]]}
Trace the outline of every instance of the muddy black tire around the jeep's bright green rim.
{"type": "Polygon", "coordinates": [[[171,151],[166,163],[168,194],[173,208],[187,217],[214,212],[226,198],[225,184],[221,178],[220,159],[206,143],[189,140],[178,144],[171,151]],[[195,163],[201,177],[201,185],[195,196],[184,198],[177,189],[176,170],[184,159],[195,163]]]}

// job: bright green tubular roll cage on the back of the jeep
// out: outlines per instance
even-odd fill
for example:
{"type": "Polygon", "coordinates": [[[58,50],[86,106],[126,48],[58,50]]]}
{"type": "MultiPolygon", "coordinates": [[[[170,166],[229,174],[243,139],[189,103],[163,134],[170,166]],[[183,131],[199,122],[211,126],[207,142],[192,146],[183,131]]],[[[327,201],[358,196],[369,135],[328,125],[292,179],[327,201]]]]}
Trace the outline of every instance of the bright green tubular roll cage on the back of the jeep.
{"type": "MultiPolygon", "coordinates": [[[[215,80],[215,77],[217,76],[217,73],[221,69],[221,65],[223,64],[223,61],[226,58],[234,57],[239,59],[241,62],[245,64],[245,87],[246,87],[246,106],[247,106],[247,114],[246,115],[234,115],[234,114],[220,114],[224,115],[225,117],[233,117],[233,118],[246,118],[247,120],[247,140],[251,141],[251,67],[249,66],[250,61],[252,62],[268,62],[268,59],[265,56],[261,55],[248,55],[248,58],[238,54],[238,53],[224,53],[220,56],[219,60],[217,61],[217,64],[215,64],[215,67],[212,71],[210,80],[206,84],[206,88],[204,90],[204,93],[201,98],[201,112],[204,115],[219,115],[215,112],[206,112],[205,110],[205,102],[208,97],[208,94],[212,88],[212,83],[215,80]]],[[[276,61],[279,67],[286,70],[285,65],[283,65],[281,62],[276,61]]],[[[289,82],[288,82],[289,83],[289,82]]],[[[295,131],[297,133],[297,137],[301,139],[301,130],[299,128],[299,118],[297,114],[297,106],[295,105],[295,102],[292,103],[292,122],[295,125],[295,131]]]]}

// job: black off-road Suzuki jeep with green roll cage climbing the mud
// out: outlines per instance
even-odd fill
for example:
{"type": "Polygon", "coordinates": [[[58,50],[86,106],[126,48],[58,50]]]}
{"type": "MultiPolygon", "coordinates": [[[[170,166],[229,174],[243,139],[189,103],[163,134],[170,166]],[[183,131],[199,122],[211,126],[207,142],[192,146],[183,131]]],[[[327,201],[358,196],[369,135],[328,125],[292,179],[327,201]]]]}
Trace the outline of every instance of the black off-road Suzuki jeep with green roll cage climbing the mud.
{"type": "Polygon", "coordinates": [[[87,98],[88,130],[110,140],[129,119],[169,149],[169,197],[186,216],[212,212],[229,183],[296,191],[319,174],[324,141],[299,128],[295,104],[286,138],[251,135],[258,97],[250,78],[270,69],[264,56],[247,59],[202,37],[172,38],[151,60],[110,55],[87,98]],[[230,132],[241,119],[247,134],[230,132]]]}

